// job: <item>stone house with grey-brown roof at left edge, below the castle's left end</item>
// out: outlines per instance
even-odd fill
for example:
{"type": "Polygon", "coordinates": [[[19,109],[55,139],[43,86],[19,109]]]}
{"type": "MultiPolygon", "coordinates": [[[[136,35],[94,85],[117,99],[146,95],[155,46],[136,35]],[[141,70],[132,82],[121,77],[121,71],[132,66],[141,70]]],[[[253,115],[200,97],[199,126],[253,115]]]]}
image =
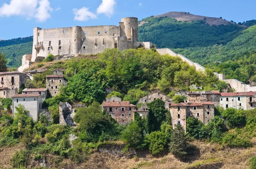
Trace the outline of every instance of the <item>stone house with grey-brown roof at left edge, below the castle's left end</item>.
{"type": "Polygon", "coordinates": [[[26,74],[18,71],[0,72],[0,87],[9,89],[20,89],[21,85],[26,82],[26,74]]]}

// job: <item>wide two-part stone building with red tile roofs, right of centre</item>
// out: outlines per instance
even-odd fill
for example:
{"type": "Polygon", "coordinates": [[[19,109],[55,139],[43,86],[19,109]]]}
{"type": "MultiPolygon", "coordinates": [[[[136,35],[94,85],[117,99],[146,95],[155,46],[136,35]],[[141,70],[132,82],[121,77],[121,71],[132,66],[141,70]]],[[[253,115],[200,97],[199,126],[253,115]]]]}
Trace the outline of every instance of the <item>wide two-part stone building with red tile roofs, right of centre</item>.
{"type": "Polygon", "coordinates": [[[201,103],[172,103],[170,106],[172,127],[181,124],[186,130],[186,118],[192,117],[207,124],[214,118],[214,103],[212,101],[201,103]]]}

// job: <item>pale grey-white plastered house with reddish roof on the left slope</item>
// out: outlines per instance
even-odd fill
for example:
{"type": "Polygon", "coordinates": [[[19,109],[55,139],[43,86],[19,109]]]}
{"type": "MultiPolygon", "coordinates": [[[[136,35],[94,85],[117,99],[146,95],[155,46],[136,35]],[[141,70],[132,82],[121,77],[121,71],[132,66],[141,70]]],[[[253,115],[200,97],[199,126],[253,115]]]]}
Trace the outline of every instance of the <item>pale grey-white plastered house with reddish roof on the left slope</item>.
{"type": "Polygon", "coordinates": [[[16,113],[16,108],[19,104],[24,105],[25,109],[29,111],[28,116],[32,117],[34,121],[39,119],[39,109],[42,108],[41,94],[15,94],[12,97],[12,115],[16,113]]]}

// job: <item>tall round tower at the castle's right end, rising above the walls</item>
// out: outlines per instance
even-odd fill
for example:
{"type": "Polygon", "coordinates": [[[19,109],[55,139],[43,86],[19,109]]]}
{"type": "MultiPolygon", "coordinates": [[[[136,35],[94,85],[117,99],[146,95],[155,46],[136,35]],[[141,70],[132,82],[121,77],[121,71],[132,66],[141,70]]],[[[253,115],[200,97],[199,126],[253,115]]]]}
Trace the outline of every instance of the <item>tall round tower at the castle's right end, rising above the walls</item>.
{"type": "Polygon", "coordinates": [[[125,34],[128,41],[138,41],[138,18],[137,17],[125,17],[121,19],[121,22],[125,26],[125,34]]]}

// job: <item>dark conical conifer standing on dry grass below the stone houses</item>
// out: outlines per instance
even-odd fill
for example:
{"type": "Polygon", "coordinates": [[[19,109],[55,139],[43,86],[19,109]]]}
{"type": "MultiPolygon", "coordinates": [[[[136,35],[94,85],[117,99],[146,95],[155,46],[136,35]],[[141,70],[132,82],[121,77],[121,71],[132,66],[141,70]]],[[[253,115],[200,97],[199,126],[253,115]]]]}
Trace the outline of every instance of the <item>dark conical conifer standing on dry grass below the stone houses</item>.
{"type": "Polygon", "coordinates": [[[189,144],[189,137],[186,135],[185,130],[181,124],[175,124],[171,142],[169,144],[170,152],[178,158],[184,158],[191,148],[189,144]]]}

